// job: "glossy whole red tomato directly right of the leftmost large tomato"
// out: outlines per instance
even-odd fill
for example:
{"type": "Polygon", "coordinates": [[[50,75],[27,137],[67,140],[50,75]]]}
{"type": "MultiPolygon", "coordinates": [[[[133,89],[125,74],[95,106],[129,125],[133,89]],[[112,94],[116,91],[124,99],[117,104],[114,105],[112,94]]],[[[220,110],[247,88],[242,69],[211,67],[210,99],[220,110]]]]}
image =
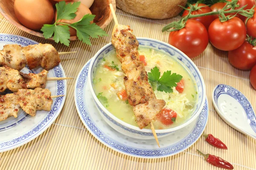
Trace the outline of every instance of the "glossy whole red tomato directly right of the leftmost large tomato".
{"type": "Polygon", "coordinates": [[[215,19],[208,29],[209,40],[213,46],[223,51],[239,48],[246,38],[244,22],[238,17],[221,23],[215,19]]]}

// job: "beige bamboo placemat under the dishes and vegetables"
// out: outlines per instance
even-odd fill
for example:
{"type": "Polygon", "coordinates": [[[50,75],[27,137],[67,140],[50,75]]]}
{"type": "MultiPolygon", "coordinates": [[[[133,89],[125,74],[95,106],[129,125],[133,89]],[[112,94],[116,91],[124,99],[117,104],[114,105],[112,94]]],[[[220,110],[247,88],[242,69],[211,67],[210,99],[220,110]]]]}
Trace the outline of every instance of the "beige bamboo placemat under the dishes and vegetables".
{"type": "MultiPolygon", "coordinates": [[[[130,25],[137,37],[149,37],[167,42],[168,33],[162,33],[162,27],[175,20],[150,20],[137,17],[119,9],[116,10],[120,24],[130,25]]],[[[178,18],[178,17],[177,17],[178,18]]],[[[177,20],[176,18],[176,20],[177,20]]],[[[111,35],[113,21],[105,28],[111,35]]],[[[196,149],[204,153],[211,153],[230,161],[236,170],[256,169],[256,141],[234,130],[227,125],[216,113],[212,105],[213,88],[224,83],[239,89],[252,103],[256,110],[256,90],[249,82],[249,71],[233,68],[227,59],[227,52],[219,51],[208,45],[201,56],[193,59],[204,77],[209,102],[209,120],[205,133],[212,133],[228,146],[228,150],[220,150],[210,146],[201,137],[192,147],[175,155],[162,159],[140,159],[118,153],[95,139],[81,122],[74,102],[74,87],[76,77],[83,65],[93,57],[111,37],[93,39],[88,46],[80,41],[70,43],[70,47],[56,44],[52,41],[40,39],[27,34],[10,24],[0,16],[0,33],[16,34],[28,37],[41,43],[51,43],[61,51],[78,51],[62,57],[67,77],[74,77],[67,81],[67,98],[64,107],[56,121],[40,136],[31,142],[0,153],[0,170],[55,170],[55,169],[132,169],[132,170],[215,170],[208,164],[196,149]]]]}

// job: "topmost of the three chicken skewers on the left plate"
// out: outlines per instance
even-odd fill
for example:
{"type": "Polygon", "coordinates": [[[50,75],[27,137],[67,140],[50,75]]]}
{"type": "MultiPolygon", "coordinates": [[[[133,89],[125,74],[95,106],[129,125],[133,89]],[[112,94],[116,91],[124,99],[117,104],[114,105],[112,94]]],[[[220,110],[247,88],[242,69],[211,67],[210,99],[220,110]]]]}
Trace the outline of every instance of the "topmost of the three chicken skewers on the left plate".
{"type": "Polygon", "coordinates": [[[0,66],[8,66],[15,70],[22,70],[26,64],[29,69],[43,67],[49,70],[57,66],[60,62],[59,54],[75,53],[58,51],[51,44],[35,44],[21,47],[17,44],[7,44],[0,51],[0,66]]]}

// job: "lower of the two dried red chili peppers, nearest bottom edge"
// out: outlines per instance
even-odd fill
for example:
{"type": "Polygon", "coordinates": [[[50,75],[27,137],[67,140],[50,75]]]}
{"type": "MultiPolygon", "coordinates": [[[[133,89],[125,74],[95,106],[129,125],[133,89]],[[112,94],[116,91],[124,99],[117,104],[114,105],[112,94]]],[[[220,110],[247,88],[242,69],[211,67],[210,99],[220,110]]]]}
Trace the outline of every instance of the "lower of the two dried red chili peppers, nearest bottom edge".
{"type": "Polygon", "coordinates": [[[215,167],[220,167],[220,168],[224,168],[227,170],[233,170],[234,167],[232,164],[230,164],[228,161],[225,161],[224,159],[218,157],[218,156],[214,156],[214,155],[210,155],[210,154],[204,154],[201,153],[198,149],[197,151],[204,156],[204,159],[209,163],[212,164],[215,167]]]}

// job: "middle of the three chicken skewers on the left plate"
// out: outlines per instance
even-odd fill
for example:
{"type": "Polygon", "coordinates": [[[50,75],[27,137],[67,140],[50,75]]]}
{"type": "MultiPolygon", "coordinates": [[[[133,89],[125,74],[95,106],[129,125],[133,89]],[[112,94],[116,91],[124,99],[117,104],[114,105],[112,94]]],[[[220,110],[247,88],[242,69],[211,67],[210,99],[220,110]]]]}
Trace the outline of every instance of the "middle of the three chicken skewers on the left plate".
{"type": "Polygon", "coordinates": [[[0,92],[9,89],[12,92],[17,92],[19,89],[26,88],[45,88],[47,80],[73,79],[69,77],[49,77],[48,71],[43,70],[38,74],[24,74],[13,68],[0,67],[0,92]]]}

